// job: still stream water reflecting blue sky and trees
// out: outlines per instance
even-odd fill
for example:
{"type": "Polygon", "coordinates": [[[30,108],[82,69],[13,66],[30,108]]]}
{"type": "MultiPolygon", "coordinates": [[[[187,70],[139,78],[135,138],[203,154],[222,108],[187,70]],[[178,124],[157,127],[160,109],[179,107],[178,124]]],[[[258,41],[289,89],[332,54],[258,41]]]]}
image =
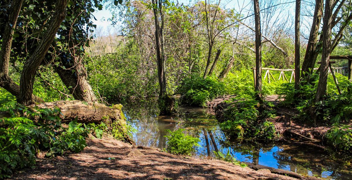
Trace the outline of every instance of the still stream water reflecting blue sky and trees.
{"type": "Polygon", "coordinates": [[[348,156],[298,142],[231,142],[220,130],[215,117],[206,113],[206,109],[180,107],[179,110],[184,115],[157,116],[156,104],[139,104],[123,109],[127,122],[137,130],[133,133],[137,145],[165,148],[165,130],[183,128],[186,129],[185,134],[200,139],[200,147],[196,148],[193,155],[197,158],[207,158],[208,155],[215,157],[213,151],[218,149],[223,154],[230,151],[239,161],[327,179],[352,179],[352,158],[348,156]]]}

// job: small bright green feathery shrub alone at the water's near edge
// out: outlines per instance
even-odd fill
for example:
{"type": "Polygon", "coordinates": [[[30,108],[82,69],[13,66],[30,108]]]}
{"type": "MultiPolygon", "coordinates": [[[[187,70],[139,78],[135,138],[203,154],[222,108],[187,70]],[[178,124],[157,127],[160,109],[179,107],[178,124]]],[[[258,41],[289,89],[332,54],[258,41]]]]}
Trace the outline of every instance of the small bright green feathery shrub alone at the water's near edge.
{"type": "Polygon", "coordinates": [[[172,154],[191,155],[195,151],[194,146],[199,146],[199,138],[184,135],[184,129],[177,129],[174,132],[166,130],[170,136],[165,136],[167,141],[166,150],[172,154]]]}

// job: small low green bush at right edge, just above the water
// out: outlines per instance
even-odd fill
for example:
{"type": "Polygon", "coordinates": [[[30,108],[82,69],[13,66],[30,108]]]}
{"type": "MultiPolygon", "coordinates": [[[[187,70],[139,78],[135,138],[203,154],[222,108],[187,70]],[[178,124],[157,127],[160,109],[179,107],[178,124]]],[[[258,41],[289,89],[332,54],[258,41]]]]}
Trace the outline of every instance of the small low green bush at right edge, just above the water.
{"type": "Polygon", "coordinates": [[[352,150],[352,126],[334,126],[326,134],[327,142],[332,146],[345,150],[352,150]]]}

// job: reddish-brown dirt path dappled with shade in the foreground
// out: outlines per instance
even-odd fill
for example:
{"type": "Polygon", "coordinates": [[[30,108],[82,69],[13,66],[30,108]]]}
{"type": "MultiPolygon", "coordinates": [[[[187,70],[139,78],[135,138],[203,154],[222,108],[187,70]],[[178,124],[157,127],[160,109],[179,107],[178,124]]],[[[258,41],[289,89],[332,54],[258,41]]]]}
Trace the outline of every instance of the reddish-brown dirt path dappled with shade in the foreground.
{"type": "Polygon", "coordinates": [[[39,158],[37,167],[25,169],[11,179],[294,179],[220,160],[137,149],[112,139],[87,138],[87,143],[81,153],[39,158]]]}

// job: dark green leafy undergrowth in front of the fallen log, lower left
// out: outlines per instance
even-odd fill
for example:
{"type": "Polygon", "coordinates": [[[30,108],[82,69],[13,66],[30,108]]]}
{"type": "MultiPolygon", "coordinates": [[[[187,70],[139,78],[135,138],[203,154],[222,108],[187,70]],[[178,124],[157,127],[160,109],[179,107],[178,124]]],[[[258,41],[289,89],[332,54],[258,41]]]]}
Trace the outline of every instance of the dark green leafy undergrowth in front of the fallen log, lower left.
{"type": "Polygon", "coordinates": [[[33,166],[40,150],[48,151],[47,156],[55,156],[66,151],[80,152],[87,146],[85,137],[89,128],[76,121],[63,128],[57,108],[31,112],[17,105],[1,110],[12,117],[0,118],[0,178],[9,177],[15,169],[33,166]],[[34,123],[29,119],[34,117],[39,121],[34,123]]]}

